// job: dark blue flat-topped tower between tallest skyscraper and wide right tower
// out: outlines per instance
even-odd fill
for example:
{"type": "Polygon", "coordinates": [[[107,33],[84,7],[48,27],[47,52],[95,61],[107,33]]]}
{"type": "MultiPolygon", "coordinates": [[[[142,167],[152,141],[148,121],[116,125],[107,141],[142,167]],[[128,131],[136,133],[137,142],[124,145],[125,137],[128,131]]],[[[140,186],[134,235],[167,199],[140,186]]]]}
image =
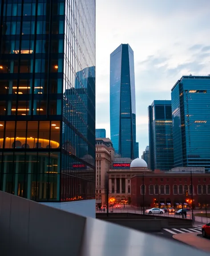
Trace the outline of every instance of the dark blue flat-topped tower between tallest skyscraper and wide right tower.
{"type": "Polygon", "coordinates": [[[151,170],[174,167],[171,101],[153,101],[149,116],[149,166],[151,170]]]}

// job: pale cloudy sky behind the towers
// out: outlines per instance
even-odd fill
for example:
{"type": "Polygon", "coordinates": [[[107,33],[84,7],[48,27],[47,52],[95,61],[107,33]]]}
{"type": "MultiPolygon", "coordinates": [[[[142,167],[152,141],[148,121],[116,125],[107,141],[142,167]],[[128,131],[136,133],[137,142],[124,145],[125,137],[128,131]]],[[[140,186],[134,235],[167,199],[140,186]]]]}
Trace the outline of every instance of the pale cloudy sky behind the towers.
{"type": "Polygon", "coordinates": [[[139,157],[149,145],[148,106],[170,100],[182,75],[210,73],[210,0],[96,0],[96,128],[110,138],[110,54],[134,51],[139,157]]]}

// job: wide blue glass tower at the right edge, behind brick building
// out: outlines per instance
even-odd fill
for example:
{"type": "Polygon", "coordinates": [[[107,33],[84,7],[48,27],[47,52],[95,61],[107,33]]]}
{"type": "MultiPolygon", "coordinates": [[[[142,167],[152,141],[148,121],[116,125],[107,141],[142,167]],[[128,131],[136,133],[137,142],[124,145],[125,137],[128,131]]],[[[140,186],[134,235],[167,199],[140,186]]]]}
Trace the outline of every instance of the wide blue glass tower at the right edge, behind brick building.
{"type": "Polygon", "coordinates": [[[171,102],[174,167],[210,170],[210,76],[182,76],[171,102]]]}

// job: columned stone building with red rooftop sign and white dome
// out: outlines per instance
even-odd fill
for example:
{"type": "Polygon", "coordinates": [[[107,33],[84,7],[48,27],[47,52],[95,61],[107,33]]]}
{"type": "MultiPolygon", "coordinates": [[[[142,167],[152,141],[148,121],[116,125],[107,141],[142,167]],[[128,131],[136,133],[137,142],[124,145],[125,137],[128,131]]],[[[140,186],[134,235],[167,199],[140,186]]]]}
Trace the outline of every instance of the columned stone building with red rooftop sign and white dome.
{"type": "Polygon", "coordinates": [[[147,170],[146,162],[137,158],[131,161],[129,158],[117,158],[109,169],[109,198],[114,197],[117,201],[131,201],[131,178],[142,170],[147,170]],[[133,168],[138,162],[138,168],[133,168]]]}

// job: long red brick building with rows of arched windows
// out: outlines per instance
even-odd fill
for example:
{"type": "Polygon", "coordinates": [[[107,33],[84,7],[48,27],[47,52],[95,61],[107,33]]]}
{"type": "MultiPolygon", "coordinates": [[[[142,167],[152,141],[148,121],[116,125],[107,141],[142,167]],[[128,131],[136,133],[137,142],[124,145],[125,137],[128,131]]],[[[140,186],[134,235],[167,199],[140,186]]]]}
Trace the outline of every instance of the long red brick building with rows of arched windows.
{"type": "MultiPolygon", "coordinates": [[[[210,207],[210,174],[198,170],[192,171],[193,201],[191,196],[190,171],[177,170],[171,172],[154,172],[141,167],[138,159],[130,164],[131,172],[138,172],[131,179],[131,204],[143,206],[143,184],[145,186],[144,202],[146,207],[194,206],[195,208],[210,207]],[[186,192],[188,196],[186,196],[186,192]]],[[[186,169],[186,168],[182,168],[186,169]]],[[[196,169],[196,168],[194,168],[196,169]]],[[[191,170],[191,169],[190,169],[191,170]]]]}

